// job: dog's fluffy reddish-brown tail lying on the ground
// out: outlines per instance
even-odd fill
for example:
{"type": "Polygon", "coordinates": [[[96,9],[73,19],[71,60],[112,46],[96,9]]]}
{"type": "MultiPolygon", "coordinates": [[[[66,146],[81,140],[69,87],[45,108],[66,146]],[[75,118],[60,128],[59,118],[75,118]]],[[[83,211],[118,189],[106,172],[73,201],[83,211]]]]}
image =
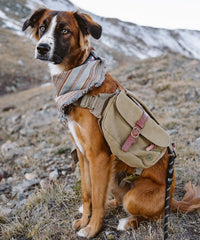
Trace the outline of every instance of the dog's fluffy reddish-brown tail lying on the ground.
{"type": "Polygon", "coordinates": [[[188,182],[185,186],[185,196],[181,201],[172,199],[170,204],[171,210],[178,210],[180,212],[192,212],[200,208],[200,186],[192,185],[188,182]]]}

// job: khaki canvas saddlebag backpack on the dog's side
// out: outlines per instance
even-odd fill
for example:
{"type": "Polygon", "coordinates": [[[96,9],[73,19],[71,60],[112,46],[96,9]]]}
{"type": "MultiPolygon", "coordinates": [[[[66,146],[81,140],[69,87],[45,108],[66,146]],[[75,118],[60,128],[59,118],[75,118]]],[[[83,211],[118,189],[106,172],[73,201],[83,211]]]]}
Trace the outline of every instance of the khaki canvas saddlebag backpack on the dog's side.
{"type": "Polygon", "coordinates": [[[121,91],[110,98],[100,125],[111,152],[131,167],[151,167],[169,146],[168,134],[144,103],[129,91],[121,91]],[[136,123],[144,114],[148,116],[144,126],[141,130],[137,129],[136,123]],[[136,136],[131,134],[133,130],[136,130],[136,136]],[[136,138],[135,143],[124,151],[123,146],[130,135],[136,138]]]}

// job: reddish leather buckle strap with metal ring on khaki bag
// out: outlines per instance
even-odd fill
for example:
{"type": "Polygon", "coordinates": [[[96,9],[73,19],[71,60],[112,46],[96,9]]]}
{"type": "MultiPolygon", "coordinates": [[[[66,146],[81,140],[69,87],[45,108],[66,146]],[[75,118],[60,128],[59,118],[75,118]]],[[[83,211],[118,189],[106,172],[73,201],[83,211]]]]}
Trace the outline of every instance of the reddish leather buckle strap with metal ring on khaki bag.
{"type": "Polygon", "coordinates": [[[143,112],[141,118],[135,123],[135,126],[134,126],[133,130],[128,135],[125,143],[123,144],[122,151],[128,152],[131,145],[133,145],[137,142],[137,139],[140,135],[140,132],[143,129],[147,119],[148,119],[148,115],[145,112],[143,112]]]}

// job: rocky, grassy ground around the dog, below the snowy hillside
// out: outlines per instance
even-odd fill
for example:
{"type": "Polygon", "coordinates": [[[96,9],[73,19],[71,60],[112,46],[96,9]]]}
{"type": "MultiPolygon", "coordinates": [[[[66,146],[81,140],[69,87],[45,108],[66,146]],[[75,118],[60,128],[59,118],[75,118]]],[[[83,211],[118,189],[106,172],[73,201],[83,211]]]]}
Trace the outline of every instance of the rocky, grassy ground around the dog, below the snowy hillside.
{"type": "MultiPolygon", "coordinates": [[[[175,198],[200,185],[200,62],[171,54],[126,63],[112,74],[151,108],[176,142],[175,198]]],[[[52,85],[0,98],[0,239],[78,239],[80,174],[68,130],[57,120],[52,85]]],[[[118,232],[122,208],[109,210],[95,239],[163,239],[163,220],[118,232]]],[[[170,239],[197,240],[200,211],[171,213],[170,239]]]]}

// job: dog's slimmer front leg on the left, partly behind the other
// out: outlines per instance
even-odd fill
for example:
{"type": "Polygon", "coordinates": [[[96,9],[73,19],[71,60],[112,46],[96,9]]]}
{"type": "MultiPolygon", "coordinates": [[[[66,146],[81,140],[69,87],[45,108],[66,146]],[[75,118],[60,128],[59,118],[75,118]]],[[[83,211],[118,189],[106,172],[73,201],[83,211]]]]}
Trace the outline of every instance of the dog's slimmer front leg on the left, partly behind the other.
{"type": "Polygon", "coordinates": [[[86,157],[78,151],[78,158],[81,170],[81,192],[83,199],[83,215],[80,219],[74,221],[73,228],[75,230],[85,227],[89,222],[91,215],[91,181],[89,162],[86,157]]]}

